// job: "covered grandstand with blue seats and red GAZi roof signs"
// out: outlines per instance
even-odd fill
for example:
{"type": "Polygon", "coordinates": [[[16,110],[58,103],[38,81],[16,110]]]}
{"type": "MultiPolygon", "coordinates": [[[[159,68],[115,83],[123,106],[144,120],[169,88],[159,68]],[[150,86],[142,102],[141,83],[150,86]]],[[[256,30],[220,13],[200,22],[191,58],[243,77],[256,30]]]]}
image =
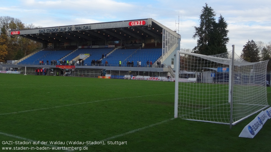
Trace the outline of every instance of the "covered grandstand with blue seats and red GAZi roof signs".
{"type": "Polygon", "coordinates": [[[34,74],[35,68],[47,68],[55,69],[51,72],[54,75],[57,71],[64,73],[69,70],[75,76],[96,77],[101,69],[106,69],[107,73],[116,77],[123,74],[175,77],[175,52],[180,50],[180,35],[151,18],[18,29],[9,31],[9,36],[21,36],[42,44],[42,50],[0,65],[0,70],[21,70],[22,73],[25,73],[26,67],[28,74],[34,74]],[[60,51],[67,50],[68,53],[59,56],[60,51]],[[80,56],[82,52],[84,57],[80,56]],[[102,58],[102,54],[107,54],[107,58],[102,58]],[[51,62],[52,56],[58,61],[83,59],[85,62],[65,69],[57,66],[59,63],[46,63],[45,60],[51,62]],[[42,65],[39,64],[40,60],[44,60],[42,65]],[[101,64],[93,66],[91,60],[101,60],[101,64]],[[110,60],[109,64],[106,65],[105,60],[110,60]],[[128,61],[130,64],[132,60],[133,65],[128,65],[128,61]],[[137,65],[139,60],[142,63],[140,67],[137,65]],[[151,67],[147,65],[147,60],[152,60],[151,67]],[[157,65],[159,60],[161,64],[157,65]],[[119,61],[122,62],[121,66],[118,65],[119,61]]]}

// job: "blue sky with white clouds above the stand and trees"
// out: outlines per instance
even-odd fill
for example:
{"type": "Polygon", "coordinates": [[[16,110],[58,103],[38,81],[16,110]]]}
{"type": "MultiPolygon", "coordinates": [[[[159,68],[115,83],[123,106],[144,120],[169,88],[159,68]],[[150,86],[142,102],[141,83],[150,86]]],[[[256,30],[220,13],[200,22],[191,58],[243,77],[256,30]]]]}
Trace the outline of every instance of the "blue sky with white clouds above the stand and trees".
{"type": "Polygon", "coordinates": [[[0,16],[51,27],[153,18],[181,35],[181,48],[194,48],[194,26],[205,3],[228,23],[227,48],[241,54],[248,40],[271,42],[270,0],[0,0],[0,16]]]}

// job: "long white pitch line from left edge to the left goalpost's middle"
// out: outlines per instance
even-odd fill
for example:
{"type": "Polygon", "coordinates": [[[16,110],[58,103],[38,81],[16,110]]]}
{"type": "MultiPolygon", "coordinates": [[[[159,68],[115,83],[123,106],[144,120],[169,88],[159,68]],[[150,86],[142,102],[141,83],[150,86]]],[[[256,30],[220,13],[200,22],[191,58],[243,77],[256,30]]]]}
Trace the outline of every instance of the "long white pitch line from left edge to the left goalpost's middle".
{"type": "MultiPolygon", "coordinates": [[[[174,93],[159,94],[159,95],[168,95],[168,94],[174,94],[174,93]]],[[[11,113],[0,113],[0,115],[7,115],[7,114],[12,114],[12,113],[23,113],[23,112],[37,111],[37,110],[45,110],[45,109],[52,109],[52,108],[59,108],[59,107],[67,107],[67,106],[74,106],[74,105],[79,105],[79,104],[89,104],[89,103],[100,102],[100,101],[118,100],[118,99],[127,99],[127,98],[141,98],[141,97],[148,97],[148,96],[155,96],[155,95],[143,95],[143,96],[136,96],[136,97],[125,97],[125,98],[115,98],[115,99],[97,100],[97,101],[90,101],[90,102],[82,102],[82,103],[78,103],[78,104],[67,104],[67,105],[56,106],[56,107],[48,107],[48,108],[32,109],[32,110],[25,110],[25,111],[11,112],[11,113]]]]}

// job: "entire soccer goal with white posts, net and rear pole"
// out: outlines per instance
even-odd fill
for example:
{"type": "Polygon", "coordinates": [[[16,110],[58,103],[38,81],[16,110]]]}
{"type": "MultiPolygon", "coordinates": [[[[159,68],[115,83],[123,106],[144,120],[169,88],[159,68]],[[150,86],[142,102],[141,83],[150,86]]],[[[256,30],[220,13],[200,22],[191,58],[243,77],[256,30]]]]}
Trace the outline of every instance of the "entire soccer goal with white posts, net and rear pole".
{"type": "MultiPolygon", "coordinates": [[[[182,119],[188,119],[188,120],[194,120],[194,121],[228,124],[230,125],[230,128],[231,128],[232,125],[235,125],[241,122],[242,120],[248,118],[249,116],[269,107],[267,103],[267,93],[266,93],[266,66],[267,66],[268,60],[255,62],[255,63],[246,62],[234,53],[234,45],[232,45],[232,47],[233,47],[233,50],[231,52],[227,52],[226,54],[218,54],[214,56],[206,56],[206,55],[194,54],[190,52],[176,51],[176,62],[174,65],[174,67],[176,67],[175,68],[176,77],[175,77],[174,118],[179,117],[182,119]],[[227,68],[228,69],[227,82],[226,83],[214,82],[212,80],[210,82],[199,81],[198,75],[201,74],[200,71],[190,71],[191,73],[194,73],[195,77],[192,79],[196,81],[184,82],[184,80],[186,79],[180,78],[180,75],[181,75],[180,73],[182,73],[182,70],[180,70],[180,64],[181,64],[180,54],[198,57],[197,60],[199,60],[200,58],[201,60],[208,60],[208,62],[226,65],[228,67],[227,68]],[[251,76],[249,77],[253,77],[253,75],[255,75],[254,76],[255,80],[253,79],[253,81],[250,82],[249,84],[243,84],[243,83],[240,84],[239,83],[240,78],[238,76],[241,77],[242,75],[244,75],[244,73],[242,73],[241,70],[238,71],[238,69],[241,69],[241,70],[244,69],[246,71],[251,70],[251,76]],[[260,71],[260,73],[254,72],[256,71],[256,69],[257,71],[260,71]],[[257,79],[256,81],[256,78],[259,78],[259,79],[257,79]],[[201,86],[204,86],[204,85],[222,86],[223,85],[223,88],[224,88],[223,92],[228,92],[227,93],[228,95],[225,95],[225,93],[223,93],[224,94],[223,100],[220,100],[220,101],[213,101],[215,99],[212,99],[212,102],[208,102],[206,101],[208,99],[203,99],[205,101],[202,101],[200,105],[197,105],[201,102],[198,100],[201,100],[201,99],[196,98],[197,101],[193,101],[194,98],[192,99],[190,98],[193,97],[194,95],[193,87],[198,89],[197,87],[199,87],[200,85],[201,86]],[[244,99],[244,97],[246,97],[246,93],[248,93],[246,89],[247,87],[250,88],[250,91],[252,89],[253,93],[254,93],[253,89],[257,88],[257,91],[255,91],[255,96],[257,96],[257,99],[251,99],[249,95],[247,95],[249,99],[244,99]],[[226,91],[225,91],[225,88],[227,88],[226,91]],[[187,93],[183,93],[183,92],[187,92],[187,93]],[[211,114],[211,115],[208,116],[208,114],[211,114]],[[218,116],[220,114],[221,116],[218,116]],[[216,117],[215,115],[217,115],[218,117],[216,117]]],[[[193,64],[193,66],[197,66],[197,64],[193,64]]],[[[187,67],[187,69],[189,69],[189,67],[187,67]]],[[[215,69],[215,68],[212,68],[212,69],[215,69]]],[[[189,71],[187,70],[186,72],[188,73],[189,71]]],[[[205,92],[203,92],[202,94],[204,95],[204,93],[205,92]]],[[[216,95],[220,95],[221,90],[218,89],[218,91],[216,90],[212,91],[210,94],[212,93],[216,93],[216,95]]]]}

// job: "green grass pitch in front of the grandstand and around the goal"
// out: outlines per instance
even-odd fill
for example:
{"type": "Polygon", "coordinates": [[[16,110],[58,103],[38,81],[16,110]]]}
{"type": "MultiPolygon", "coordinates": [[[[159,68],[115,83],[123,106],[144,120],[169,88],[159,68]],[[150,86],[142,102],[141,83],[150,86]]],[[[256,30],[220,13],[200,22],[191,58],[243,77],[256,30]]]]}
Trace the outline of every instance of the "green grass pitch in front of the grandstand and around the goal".
{"type": "Polygon", "coordinates": [[[270,151],[271,120],[253,139],[238,137],[256,115],[232,129],[174,119],[174,82],[0,74],[0,96],[4,152],[270,151]]]}

